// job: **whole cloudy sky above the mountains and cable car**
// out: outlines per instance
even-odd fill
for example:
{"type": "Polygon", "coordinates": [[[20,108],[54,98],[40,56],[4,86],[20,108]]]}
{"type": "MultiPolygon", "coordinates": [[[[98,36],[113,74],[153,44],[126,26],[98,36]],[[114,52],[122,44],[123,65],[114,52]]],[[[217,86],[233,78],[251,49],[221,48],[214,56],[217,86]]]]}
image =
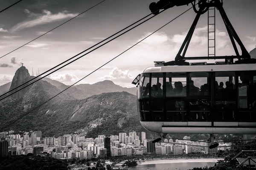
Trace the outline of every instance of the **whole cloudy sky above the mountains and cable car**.
{"type": "MultiPolygon", "coordinates": [[[[1,0],[1,8],[17,0],[1,0]]],[[[0,57],[44,34],[102,0],[23,0],[0,13],[0,57]]],[[[28,45],[0,58],[0,85],[12,81],[21,62],[34,75],[73,57],[150,13],[152,0],[105,0],[99,6],[71,20],[28,45]]],[[[155,1],[157,2],[157,1],[155,1]]],[[[116,40],[50,75],[73,84],[97,67],[119,55],[154,32],[189,6],[175,6],[116,40]]],[[[256,45],[256,1],[224,0],[224,9],[236,32],[250,52],[256,45]]],[[[159,32],[119,56],[82,83],[112,80],[131,87],[133,79],[154,61],[172,61],[195,17],[191,9],[159,32]]],[[[216,55],[235,55],[227,30],[216,11],[216,55]]],[[[207,13],[192,37],[186,56],[207,56],[207,13]]]]}

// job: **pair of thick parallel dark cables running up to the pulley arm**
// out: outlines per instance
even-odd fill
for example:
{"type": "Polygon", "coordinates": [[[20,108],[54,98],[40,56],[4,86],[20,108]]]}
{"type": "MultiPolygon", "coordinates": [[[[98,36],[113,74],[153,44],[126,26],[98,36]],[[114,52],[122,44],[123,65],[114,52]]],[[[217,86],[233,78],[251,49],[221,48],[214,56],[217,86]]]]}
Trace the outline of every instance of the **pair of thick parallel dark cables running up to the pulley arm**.
{"type": "MultiPolygon", "coordinates": [[[[191,8],[192,8],[192,7],[191,7],[191,8]]],[[[190,9],[191,9],[191,8],[190,8],[190,9]]],[[[165,10],[166,10],[166,9],[165,9],[165,10]]],[[[161,12],[164,12],[165,10],[163,10],[163,11],[161,11],[161,12]]],[[[189,9],[188,9],[188,10],[189,10],[189,9]]],[[[160,13],[161,13],[161,12],[160,12],[160,13]]],[[[153,13],[153,12],[152,12],[152,13],[153,13]]],[[[151,13],[151,14],[152,14],[152,13],[151,13]]],[[[160,13],[159,13],[159,14],[160,14],[160,13]]],[[[141,20],[145,19],[146,17],[148,17],[148,16],[151,15],[151,14],[148,14],[147,16],[145,16],[145,17],[143,17],[142,19],[136,21],[135,23],[140,22],[141,20]]],[[[142,23],[139,23],[138,25],[132,27],[131,29],[128,29],[127,31],[123,32],[122,34],[120,34],[120,35],[118,35],[118,36],[112,38],[111,40],[107,41],[106,43],[103,43],[102,45],[100,45],[100,46],[96,47],[95,49],[91,50],[90,52],[93,52],[94,50],[100,48],[101,46],[104,46],[105,44],[111,42],[112,40],[116,39],[117,37],[120,37],[121,35],[125,34],[126,32],[131,31],[132,29],[136,28],[137,26],[140,26],[141,24],[145,23],[146,21],[150,20],[151,18],[153,18],[153,17],[155,17],[155,16],[156,16],[156,15],[154,15],[154,16],[148,18],[147,20],[144,20],[142,23]]],[[[124,29],[120,30],[119,32],[116,32],[115,34],[111,35],[110,37],[106,38],[105,40],[108,40],[109,38],[113,37],[114,35],[117,35],[118,33],[122,32],[122,31],[124,31],[125,29],[129,28],[130,26],[134,25],[135,23],[133,23],[133,24],[131,24],[131,25],[125,27],[124,29]]],[[[55,69],[56,67],[60,66],[60,65],[63,64],[63,63],[66,63],[67,61],[70,61],[71,59],[73,59],[73,58],[77,57],[78,55],[80,55],[80,54],[82,54],[82,53],[88,51],[89,49],[91,49],[91,48],[93,48],[93,47],[99,45],[100,43],[102,43],[102,42],[105,41],[105,40],[100,41],[99,43],[97,43],[97,44],[91,46],[90,48],[84,50],[83,52],[80,52],[79,54],[73,56],[72,58],[69,58],[68,60],[66,60],[66,61],[64,61],[64,62],[62,62],[62,63],[60,63],[60,64],[58,64],[57,66],[54,66],[53,68],[47,70],[46,72],[43,72],[42,74],[40,74],[40,75],[38,75],[38,76],[36,76],[36,77],[30,79],[29,81],[26,81],[25,83],[20,84],[19,86],[15,87],[15,88],[13,88],[13,89],[11,89],[11,90],[9,90],[8,92],[5,92],[4,94],[0,95],[0,97],[2,97],[2,96],[4,96],[4,95],[8,94],[9,92],[14,91],[15,89],[17,89],[17,88],[19,88],[19,87],[21,87],[21,86],[27,84],[28,82],[30,82],[30,81],[32,81],[32,80],[35,80],[36,78],[40,77],[41,75],[44,75],[45,73],[51,71],[52,69],[55,69]]],[[[87,52],[87,53],[84,54],[84,55],[87,55],[87,54],[89,54],[90,52],[87,52]]],[[[84,55],[80,56],[79,58],[82,58],[84,55]]],[[[75,60],[70,61],[69,63],[65,64],[64,66],[67,66],[68,64],[73,63],[74,61],[78,60],[79,58],[76,58],[75,60]]],[[[32,83],[30,83],[30,84],[28,84],[28,85],[26,85],[26,86],[23,86],[22,88],[18,89],[17,91],[12,92],[11,94],[8,94],[8,95],[4,96],[3,98],[0,99],[0,101],[3,100],[3,99],[5,99],[5,98],[7,98],[7,97],[9,97],[9,96],[12,95],[12,94],[18,92],[18,91],[20,91],[20,90],[26,88],[27,86],[29,86],[29,85],[31,85],[31,84],[34,84],[35,82],[41,80],[42,78],[45,78],[46,76],[52,74],[53,72],[58,71],[59,69],[63,68],[64,66],[61,66],[60,68],[58,68],[58,69],[56,69],[56,70],[54,70],[54,71],[48,73],[47,75],[44,75],[43,77],[41,77],[41,78],[35,80],[34,82],[32,82],[32,83]]]]}

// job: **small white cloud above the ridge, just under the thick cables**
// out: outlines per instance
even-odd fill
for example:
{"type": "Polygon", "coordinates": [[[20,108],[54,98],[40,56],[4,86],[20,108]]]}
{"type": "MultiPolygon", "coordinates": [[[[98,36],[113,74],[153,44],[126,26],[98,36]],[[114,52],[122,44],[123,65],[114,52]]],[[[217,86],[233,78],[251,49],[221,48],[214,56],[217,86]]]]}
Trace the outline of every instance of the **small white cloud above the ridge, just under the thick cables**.
{"type": "Polygon", "coordinates": [[[48,77],[52,80],[60,81],[67,84],[79,81],[79,78],[76,75],[70,73],[49,75],[48,77]]]}

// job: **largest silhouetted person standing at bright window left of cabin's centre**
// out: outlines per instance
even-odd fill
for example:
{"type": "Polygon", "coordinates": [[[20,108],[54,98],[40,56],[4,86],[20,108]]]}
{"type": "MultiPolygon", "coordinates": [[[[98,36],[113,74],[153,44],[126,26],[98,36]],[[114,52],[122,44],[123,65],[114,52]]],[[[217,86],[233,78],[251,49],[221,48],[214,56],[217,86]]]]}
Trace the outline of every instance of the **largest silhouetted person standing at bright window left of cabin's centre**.
{"type": "MultiPolygon", "coordinates": [[[[176,97],[186,97],[186,89],[183,88],[183,84],[180,81],[174,83],[175,89],[173,92],[176,97]]],[[[185,101],[176,101],[175,102],[176,115],[174,121],[185,121],[185,101]],[[181,120],[179,118],[181,114],[181,120]]]]}

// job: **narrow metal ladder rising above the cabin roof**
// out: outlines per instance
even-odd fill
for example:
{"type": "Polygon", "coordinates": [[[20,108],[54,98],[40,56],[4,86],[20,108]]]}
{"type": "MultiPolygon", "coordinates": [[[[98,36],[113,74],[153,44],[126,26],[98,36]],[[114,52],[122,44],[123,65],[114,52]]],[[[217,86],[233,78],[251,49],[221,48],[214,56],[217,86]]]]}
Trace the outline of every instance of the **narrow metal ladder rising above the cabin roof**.
{"type": "Polygon", "coordinates": [[[215,54],[215,7],[213,6],[208,10],[208,57],[215,57],[215,54]],[[213,28],[209,30],[209,27],[213,28]]]}

